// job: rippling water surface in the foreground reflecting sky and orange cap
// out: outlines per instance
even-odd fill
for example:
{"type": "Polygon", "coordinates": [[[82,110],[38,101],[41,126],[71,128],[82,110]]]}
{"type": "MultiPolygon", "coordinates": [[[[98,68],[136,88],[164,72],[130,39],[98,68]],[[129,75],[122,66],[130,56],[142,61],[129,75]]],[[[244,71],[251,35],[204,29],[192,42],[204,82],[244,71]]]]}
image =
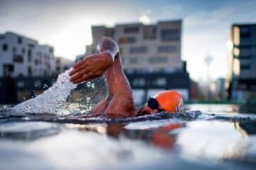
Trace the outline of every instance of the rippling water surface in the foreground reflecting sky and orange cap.
{"type": "Polygon", "coordinates": [[[183,115],[120,120],[5,115],[1,169],[256,168],[255,106],[186,108],[183,115]]]}

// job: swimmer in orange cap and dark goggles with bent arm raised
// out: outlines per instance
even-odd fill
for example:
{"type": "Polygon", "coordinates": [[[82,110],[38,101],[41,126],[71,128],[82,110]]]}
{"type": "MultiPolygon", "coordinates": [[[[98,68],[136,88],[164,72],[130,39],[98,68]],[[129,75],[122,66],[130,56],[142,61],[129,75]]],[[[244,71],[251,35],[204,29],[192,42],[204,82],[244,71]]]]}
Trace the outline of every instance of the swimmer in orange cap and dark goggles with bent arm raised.
{"type": "Polygon", "coordinates": [[[97,44],[98,54],[90,55],[73,65],[70,81],[79,84],[88,79],[105,75],[107,97],[92,108],[93,115],[107,115],[108,118],[128,118],[166,111],[183,112],[181,95],[176,91],[161,91],[136,111],[132,89],[122,69],[119,47],[112,38],[103,37],[97,44]]]}

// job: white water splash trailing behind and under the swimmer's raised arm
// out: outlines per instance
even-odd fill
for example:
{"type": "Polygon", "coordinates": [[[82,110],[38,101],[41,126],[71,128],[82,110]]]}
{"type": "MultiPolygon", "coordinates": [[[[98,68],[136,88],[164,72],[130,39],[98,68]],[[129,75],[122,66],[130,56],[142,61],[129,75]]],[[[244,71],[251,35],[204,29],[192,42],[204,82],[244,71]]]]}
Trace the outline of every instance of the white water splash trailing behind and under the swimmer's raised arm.
{"type": "Polygon", "coordinates": [[[55,84],[44,91],[43,94],[24,101],[11,108],[11,110],[19,115],[26,113],[54,113],[63,115],[90,111],[95,103],[105,96],[104,88],[102,88],[104,85],[101,84],[101,86],[95,88],[95,84],[100,84],[102,78],[85,81],[85,83],[77,86],[69,81],[68,73],[70,71],[71,69],[59,74],[55,84]],[[97,96],[96,101],[92,100],[95,99],[95,96],[97,96]]]}

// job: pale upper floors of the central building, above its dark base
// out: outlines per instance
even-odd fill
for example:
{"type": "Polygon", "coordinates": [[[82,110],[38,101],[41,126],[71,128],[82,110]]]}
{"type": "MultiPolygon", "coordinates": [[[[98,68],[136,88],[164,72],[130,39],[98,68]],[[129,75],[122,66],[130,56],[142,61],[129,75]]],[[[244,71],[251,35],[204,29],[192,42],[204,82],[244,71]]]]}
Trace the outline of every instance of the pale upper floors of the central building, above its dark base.
{"type": "Polygon", "coordinates": [[[127,72],[177,72],[183,69],[181,61],[181,20],[118,24],[114,28],[92,26],[92,45],[86,46],[86,55],[96,51],[97,42],[105,35],[114,38],[127,72]]]}

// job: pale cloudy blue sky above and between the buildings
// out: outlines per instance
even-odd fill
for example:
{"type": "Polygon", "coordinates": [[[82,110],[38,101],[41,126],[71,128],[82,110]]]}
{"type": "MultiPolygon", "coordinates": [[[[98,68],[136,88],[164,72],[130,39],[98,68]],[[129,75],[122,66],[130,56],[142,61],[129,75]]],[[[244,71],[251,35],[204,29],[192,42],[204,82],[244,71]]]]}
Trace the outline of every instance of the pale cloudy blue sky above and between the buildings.
{"type": "Polygon", "coordinates": [[[256,23],[255,8],[254,0],[0,0],[0,33],[26,35],[74,60],[92,42],[91,26],[181,18],[182,60],[191,79],[206,81],[206,56],[211,79],[228,76],[231,25],[256,23]]]}

